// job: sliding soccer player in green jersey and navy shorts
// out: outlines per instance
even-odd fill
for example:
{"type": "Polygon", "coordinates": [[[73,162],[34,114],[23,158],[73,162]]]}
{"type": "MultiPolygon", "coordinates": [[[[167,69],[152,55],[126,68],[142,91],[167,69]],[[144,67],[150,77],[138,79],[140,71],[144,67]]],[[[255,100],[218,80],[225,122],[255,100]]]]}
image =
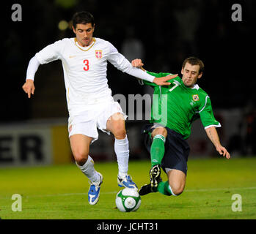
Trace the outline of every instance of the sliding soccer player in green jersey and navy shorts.
{"type": "MultiPolygon", "coordinates": [[[[132,61],[134,67],[144,65],[141,59],[132,61]]],[[[154,88],[150,124],[144,129],[146,147],[150,152],[150,184],[142,186],[139,195],[160,192],[163,195],[180,195],[186,184],[189,145],[186,139],[191,134],[191,124],[197,118],[216,147],[216,151],[227,159],[230,154],[220,141],[216,121],[208,94],[196,83],[202,78],[204,64],[196,57],[183,61],[182,78],[168,80],[168,86],[157,86],[145,80],[142,83],[154,88]],[[161,168],[167,173],[168,181],[161,180],[161,168]]],[[[145,69],[143,69],[145,70],[145,69]]],[[[156,77],[170,73],[147,72],[156,77]]]]}

